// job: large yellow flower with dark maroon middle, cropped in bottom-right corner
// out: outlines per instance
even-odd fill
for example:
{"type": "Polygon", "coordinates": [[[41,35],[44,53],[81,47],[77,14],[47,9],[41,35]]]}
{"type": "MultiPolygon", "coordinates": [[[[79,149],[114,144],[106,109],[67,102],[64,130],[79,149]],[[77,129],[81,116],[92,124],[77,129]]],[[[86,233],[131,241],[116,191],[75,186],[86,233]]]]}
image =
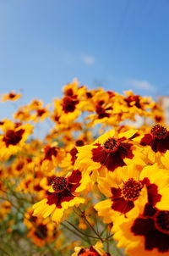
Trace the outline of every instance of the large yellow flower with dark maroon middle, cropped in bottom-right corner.
{"type": "MultiPolygon", "coordinates": [[[[140,202],[141,204],[141,202],[140,202]]],[[[112,227],[117,247],[131,256],[167,256],[169,254],[169,211],[150,203],[133,209],[128,218],[117,217],[112,227]]]]}

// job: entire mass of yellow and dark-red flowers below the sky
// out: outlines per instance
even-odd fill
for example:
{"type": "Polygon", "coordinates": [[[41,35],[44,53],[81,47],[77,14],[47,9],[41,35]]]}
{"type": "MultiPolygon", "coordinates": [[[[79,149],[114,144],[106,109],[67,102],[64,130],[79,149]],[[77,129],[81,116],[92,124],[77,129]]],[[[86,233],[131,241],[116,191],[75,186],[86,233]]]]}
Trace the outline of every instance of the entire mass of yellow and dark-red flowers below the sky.
{"type": "Polygon", "coordinates": [[[169,255],[169,131],[150,97],[73,81],[61,99],[33,100],[0,129],[4,243],[25,236],[28,255],[169,255]],[[42,121],[50,129],[37,139],[42,121]]]}

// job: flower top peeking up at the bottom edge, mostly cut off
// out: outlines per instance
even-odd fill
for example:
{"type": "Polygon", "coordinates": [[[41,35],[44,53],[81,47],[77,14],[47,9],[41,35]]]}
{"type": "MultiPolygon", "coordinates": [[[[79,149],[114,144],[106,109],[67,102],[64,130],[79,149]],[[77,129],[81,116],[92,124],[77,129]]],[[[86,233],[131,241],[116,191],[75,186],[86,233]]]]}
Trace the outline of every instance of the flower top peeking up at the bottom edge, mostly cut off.
{"type": "Polygon", "coordinates": [[[72,256],[111,256],[110,253],[105,253],[102,248],[101,242],[97,242],[95,246],[91,245],[90,248],[76,247],[72,256]]]}

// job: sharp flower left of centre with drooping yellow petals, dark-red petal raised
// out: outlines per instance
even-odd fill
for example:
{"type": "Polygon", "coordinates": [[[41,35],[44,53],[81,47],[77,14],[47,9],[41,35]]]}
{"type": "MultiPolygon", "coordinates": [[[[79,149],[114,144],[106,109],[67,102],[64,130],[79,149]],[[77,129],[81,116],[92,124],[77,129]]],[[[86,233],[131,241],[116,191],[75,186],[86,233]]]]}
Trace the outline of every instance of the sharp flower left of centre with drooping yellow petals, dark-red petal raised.
{"type": "Polygon", "coordinates": [[[79,193],[85,190],[89,182],[90,178],[88,176],[82,178],[79,170],[74,170],[67,177],[56,176],[52,180],[47,198],[34,204],[33,215],[46,218],[52,214],[52,220],[59,223],[65,209],[85,202],[85,198],[80,198],[79,193]]]}

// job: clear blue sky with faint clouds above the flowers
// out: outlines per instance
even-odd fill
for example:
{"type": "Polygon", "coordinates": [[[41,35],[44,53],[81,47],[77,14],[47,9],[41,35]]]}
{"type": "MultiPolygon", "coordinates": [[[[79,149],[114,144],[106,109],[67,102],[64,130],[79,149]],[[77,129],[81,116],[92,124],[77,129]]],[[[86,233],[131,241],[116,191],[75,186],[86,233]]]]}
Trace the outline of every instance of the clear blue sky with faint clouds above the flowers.
{"type": "Polygon", "coordinates": [[[22,103],[49,103],[74,77],[169,94],[168,0],[0,0],[0,35],[0,94],[21,89],[22,103]]]}

